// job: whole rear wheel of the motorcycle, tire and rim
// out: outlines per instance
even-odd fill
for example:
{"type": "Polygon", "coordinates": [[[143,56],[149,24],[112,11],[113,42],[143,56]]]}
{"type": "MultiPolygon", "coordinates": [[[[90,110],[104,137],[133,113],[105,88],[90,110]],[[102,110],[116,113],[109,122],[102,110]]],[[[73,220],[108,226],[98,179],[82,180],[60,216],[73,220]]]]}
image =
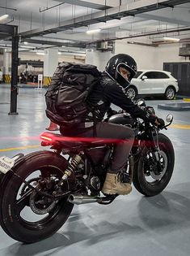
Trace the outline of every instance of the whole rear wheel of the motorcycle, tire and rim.
{"type": "MultiPolygon", "coordinates": [[[[46,151],[44,151],[46,152],[46,151]]],[[[33,155],[15,167],[17,175],[43,193],[53,194],[67,167],[65,158],[51,152],[33,155]]],[[[67,192],[74,177],[64,184],[67,192]]],[[[70,216],[73,204],[67,197],[55,200],[37,193],[18,177],[7,176],[2,181],[0,222],[4,231],[18,241],[32,243],[53,235],[70,216]]]]}

